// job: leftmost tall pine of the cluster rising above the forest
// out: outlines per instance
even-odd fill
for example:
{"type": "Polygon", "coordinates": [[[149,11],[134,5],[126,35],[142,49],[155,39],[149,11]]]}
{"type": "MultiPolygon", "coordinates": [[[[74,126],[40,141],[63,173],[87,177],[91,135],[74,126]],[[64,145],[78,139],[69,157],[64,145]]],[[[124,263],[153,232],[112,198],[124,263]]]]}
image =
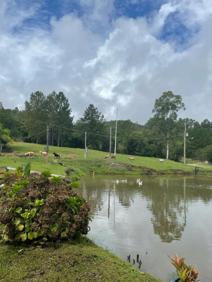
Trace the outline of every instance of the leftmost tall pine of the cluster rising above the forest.
{"type": "MultiPolygon", "coordinates": [[[[25,121],[30,135],[38,133],[38,130],[46,126],[46,96],[41,91],[31,93],[30,101],[25,101],[25,121]],[[39,128],[39,129],[38,129],[39,128]]],[[[39,136],[36,135],[38,144],[39,136]]]]}

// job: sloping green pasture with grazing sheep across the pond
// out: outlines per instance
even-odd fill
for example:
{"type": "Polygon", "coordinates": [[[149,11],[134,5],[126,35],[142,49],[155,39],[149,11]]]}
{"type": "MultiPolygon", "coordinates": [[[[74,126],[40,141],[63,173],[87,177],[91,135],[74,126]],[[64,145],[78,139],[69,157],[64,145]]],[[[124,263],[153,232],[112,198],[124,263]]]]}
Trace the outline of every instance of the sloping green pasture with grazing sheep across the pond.
{"type": "MultiPolygon", "coordinates": [[[[71,180],[77,180],[81,176],[91,174],[193,174],[194,167],[183,165],[170,160],[164,160],[164,163],[159,163],[156,158],[135,156],[135,161],[130,161],[128,157],[131,155],[116,154],[116,159],[104,159],[107,153],[89,150],[87,158],[84,158],[84,149],[74,149],[66,147],[49,146],[49,165],[46,165],[46,159],[41,158],[39,151],[44,150],[44,145],[14,142],[11,146],[14,154],[24,154],[33,151],[36,156],[30,159],[31,169],[42,171],[51,170],[52,173],[67,175],[71,180]],[[59,153],[61,162],[64,166],[54,162],[52,153],[59,153]],[[76,157],[73,157],[75,155],[76,157]],[[69,170],[67,173],[66,171],[69,170]]],[[[0,166],[17,167],[26,162],[26,158],[7,158],[6,154],[0,157],[0,166]]],[[[198,174],[212,175],[212,167],[209,165],[201,165],[204,169],[199,169],[198,174]]]]}

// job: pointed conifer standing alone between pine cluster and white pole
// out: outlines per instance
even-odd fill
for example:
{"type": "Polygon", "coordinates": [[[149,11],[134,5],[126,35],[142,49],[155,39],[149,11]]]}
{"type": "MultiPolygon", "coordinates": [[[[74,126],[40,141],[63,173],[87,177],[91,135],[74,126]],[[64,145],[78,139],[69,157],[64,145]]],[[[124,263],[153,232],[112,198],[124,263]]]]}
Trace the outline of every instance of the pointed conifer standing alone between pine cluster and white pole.
{"type": "MultiPolygon", "coordinates": [[[[104,115],[101,114],[93,104],[90,104],[86,108],[82,118],[79,118],[76,122],[76,128],[79,130],[94,133],[87,135],[87,141],[88,144],[90,144],[91,149],[99,149],[99,143],[101,142],[102,137],[95,134],[105,134],[105,123],[106,119],[104,118],[104,115]]],[[[84,134],[81,135],[81,138],[83,137],[84,134]]]]}

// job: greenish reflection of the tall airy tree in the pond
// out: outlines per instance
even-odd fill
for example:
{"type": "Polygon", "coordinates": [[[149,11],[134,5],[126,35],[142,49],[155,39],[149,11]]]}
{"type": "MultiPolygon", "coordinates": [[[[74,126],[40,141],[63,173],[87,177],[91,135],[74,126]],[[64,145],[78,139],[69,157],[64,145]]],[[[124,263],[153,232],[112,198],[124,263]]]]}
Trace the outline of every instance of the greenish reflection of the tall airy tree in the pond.
{"type": "Polygon", "coordinates": [[[187,210],[183,187],[169,189],[169,179],[164,182],[160,188],[157,185],[155,187],[145,186],[142,194],[151,199],[148,201],[147,208],[153,215],[151,222],[155,234],[160,236],[162,242],[170,243],[182,237],[186,226],[187,210]]]}

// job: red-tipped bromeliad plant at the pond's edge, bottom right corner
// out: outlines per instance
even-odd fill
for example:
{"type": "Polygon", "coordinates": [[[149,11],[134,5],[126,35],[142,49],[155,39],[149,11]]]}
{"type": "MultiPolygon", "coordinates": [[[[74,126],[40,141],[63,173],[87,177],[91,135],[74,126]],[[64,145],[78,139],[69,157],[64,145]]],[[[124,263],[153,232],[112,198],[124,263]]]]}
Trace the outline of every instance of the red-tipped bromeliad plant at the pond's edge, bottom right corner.
{"type": "Polygon", "coordinates": [[[175,259],[167,255],[171,260],[172,264],[177,269],[177,277],[182,282],[196,282],[199,272],[196,271],[196,265],[192,267],[190,264],[186,265],[184,263],[185,258],[178,259],[177,254],[175,253],[175,259]]]}

